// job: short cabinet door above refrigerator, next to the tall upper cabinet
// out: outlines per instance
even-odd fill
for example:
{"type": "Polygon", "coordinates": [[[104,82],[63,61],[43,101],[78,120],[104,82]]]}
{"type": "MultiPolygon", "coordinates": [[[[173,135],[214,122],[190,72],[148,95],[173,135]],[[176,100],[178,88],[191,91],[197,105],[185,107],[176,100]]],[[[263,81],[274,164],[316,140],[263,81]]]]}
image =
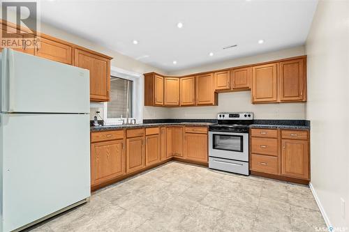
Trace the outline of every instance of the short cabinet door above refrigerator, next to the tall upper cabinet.
{"type": "Polygon", "coordinates": [[[52,61],[72,64],[71,47],[46,38],[38,38],[34,54],[52,61]]]}

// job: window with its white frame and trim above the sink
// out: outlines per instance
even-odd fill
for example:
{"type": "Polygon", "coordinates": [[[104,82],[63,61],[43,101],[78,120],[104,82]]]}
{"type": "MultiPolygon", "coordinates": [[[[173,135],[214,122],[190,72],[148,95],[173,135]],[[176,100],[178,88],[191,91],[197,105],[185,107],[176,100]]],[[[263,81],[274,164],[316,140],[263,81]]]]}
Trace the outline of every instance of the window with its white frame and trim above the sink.
{"type": "Polygon", "coordinates": [[[110,101],[103,103],[105,125],[121,124],[121,115],[142,123],[143,84],[142,74],[110,67],[110,101]]]}

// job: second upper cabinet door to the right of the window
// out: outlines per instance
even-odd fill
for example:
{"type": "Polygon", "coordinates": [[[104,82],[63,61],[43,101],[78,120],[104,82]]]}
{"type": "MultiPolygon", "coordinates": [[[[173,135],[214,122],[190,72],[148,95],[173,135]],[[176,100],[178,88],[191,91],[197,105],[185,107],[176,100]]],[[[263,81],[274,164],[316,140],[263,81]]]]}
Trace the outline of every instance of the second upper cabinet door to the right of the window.
{"type": "Polygon", "coordinates": [[[165,77],[164,105],[179,105],[179,78],[165,77]]]}

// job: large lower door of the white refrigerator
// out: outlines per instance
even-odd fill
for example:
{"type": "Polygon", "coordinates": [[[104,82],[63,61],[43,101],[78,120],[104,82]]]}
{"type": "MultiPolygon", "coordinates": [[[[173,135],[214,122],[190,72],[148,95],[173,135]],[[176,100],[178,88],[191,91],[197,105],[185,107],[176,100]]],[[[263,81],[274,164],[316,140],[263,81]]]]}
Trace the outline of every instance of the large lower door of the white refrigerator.
{"type": "Polygon", "coordinates": [[[88,114],[0,114],[0,120],[3,231],[90,196],[88,114]]]}

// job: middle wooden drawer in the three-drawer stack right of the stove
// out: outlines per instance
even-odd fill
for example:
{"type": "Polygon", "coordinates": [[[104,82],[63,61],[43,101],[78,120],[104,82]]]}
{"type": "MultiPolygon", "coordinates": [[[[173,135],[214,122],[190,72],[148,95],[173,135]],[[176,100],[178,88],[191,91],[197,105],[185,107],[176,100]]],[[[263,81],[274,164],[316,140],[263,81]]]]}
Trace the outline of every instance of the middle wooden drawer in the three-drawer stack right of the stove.
{"type": "Polygon", "coordinates": [[[278,139],[252,137],[251,153],[278,156],[278,139]]]}

